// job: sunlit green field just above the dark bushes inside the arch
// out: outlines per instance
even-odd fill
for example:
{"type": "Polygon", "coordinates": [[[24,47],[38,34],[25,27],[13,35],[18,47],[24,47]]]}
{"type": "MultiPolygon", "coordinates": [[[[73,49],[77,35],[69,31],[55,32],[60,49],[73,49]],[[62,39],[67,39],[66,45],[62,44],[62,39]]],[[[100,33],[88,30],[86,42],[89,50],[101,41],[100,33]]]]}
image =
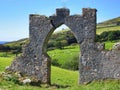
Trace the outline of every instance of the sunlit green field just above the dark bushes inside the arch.
{"type": "Polygon", "coordinates": [[[67,47],[64,47],[64,49],[55,49],[55,50],[48,51],[48,55],[51,57],[51,60],[56,61],[59,64],[59,67],[62,67],[62,68],[67,67],[66,66],[67,63],[70,64],[70,63],[73,63],[75,59],[78,60],[79,53],[80,53],[79,45],[67,46],[67,47]]]}

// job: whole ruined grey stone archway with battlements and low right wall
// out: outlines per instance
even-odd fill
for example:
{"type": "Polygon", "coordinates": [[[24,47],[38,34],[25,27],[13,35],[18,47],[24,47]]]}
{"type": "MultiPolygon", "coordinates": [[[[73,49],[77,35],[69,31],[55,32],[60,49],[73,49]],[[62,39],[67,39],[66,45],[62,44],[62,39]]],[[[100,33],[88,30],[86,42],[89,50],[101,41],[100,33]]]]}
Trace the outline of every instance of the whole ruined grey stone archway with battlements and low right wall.
{"type": "Polygon", "coordinates": [[[56,15],[50,17],[30,15],[30,42],[8,70],[50,84],[51,60],[46,45],[53,31],[62,24],[71,29],[80,45],[80,83],[120,79],[120,50],[106,51],[103,44],[95,42],[96,9],[90,8],[83,8],[82,15],[70,15],[66,8],[56,9],[56,15]]]}

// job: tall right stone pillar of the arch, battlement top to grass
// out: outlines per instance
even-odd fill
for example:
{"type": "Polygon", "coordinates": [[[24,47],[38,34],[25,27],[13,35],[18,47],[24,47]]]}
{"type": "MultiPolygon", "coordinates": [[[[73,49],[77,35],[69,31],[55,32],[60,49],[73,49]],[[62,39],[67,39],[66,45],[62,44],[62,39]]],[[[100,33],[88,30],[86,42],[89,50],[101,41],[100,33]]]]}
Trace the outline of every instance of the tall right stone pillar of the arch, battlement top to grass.
{"type": "Polygon", "coordinates": [[[83,8],[83,37],[81,43],[80,83],[89,83],[94,78],[94,55],[96,34],[96,10],[83,8]]]}

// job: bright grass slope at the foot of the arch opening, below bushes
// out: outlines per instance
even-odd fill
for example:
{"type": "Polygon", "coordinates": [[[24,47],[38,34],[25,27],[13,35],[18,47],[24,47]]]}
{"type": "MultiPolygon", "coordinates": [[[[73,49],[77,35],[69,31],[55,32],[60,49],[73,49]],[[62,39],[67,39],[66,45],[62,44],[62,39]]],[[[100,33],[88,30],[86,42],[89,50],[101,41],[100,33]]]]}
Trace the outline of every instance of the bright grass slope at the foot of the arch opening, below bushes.
{"type": "Polygon", "coordinates": [[[63,86],[78,85],[78,71],[70,71],[52,66],[52,84],[63,86]]]}

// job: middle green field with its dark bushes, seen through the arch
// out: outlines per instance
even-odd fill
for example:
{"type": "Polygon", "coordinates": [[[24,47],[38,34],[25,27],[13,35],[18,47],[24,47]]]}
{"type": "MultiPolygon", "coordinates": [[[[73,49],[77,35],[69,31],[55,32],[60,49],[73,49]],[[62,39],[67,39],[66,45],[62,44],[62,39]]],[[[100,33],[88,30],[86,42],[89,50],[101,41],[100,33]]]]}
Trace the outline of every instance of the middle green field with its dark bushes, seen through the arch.
{"type": "Polygon", "coordinates": [[[66,46],[64,49],[54,49],[48,51],[51,63],[64,69],[77,70],[80,54],[79,45],[66,46]]]}

